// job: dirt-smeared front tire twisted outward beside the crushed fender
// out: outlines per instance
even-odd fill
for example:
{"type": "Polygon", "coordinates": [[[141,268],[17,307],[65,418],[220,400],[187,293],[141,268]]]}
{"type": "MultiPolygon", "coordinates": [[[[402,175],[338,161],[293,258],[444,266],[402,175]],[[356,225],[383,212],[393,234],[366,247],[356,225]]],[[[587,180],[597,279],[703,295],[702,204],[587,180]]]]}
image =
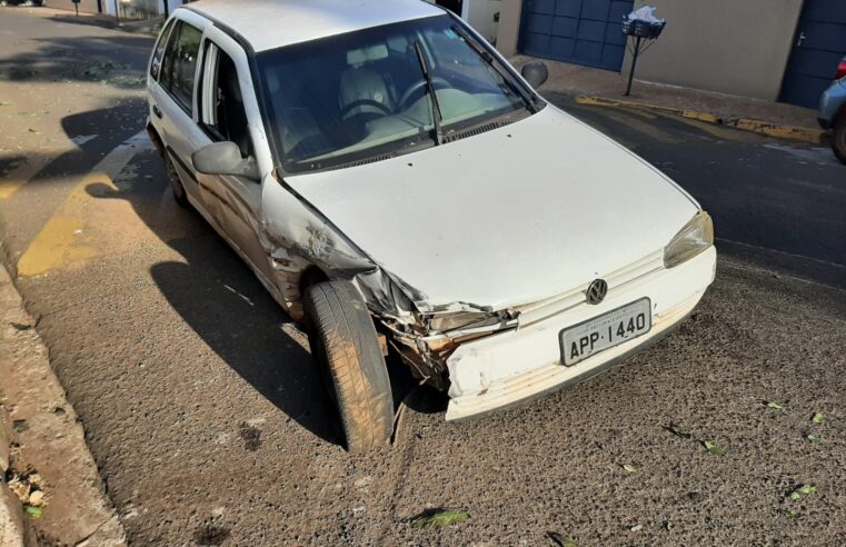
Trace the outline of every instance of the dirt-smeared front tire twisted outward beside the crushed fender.
{"type": "Polygon", "coordinates": [[[340,415],[347,450],[388,442],[394,398],[376,328],[349,281],[312,285],[303,295],[311,355],[340,415]]]}

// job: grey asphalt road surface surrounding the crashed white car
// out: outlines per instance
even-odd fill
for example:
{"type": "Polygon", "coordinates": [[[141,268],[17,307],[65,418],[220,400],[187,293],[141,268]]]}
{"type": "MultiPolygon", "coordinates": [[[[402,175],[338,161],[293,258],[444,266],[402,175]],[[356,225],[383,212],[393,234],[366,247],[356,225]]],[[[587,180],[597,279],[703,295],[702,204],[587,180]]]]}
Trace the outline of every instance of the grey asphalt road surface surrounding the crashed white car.
{"type": "Polygon", "coordinates": [[[711,212],[716,282],[609,374],[459,425],[419,390],[395,445],[352,458],[303,336],[131,140],[151,40],[0,10],[0,238],[133,544],[846,544],[846,167],[828,150],[564,105],[711,212]],[[817,493],[790,499],[802,485],[817,493]],[[408,525],[437,507],[470,519],[408,525]]]}

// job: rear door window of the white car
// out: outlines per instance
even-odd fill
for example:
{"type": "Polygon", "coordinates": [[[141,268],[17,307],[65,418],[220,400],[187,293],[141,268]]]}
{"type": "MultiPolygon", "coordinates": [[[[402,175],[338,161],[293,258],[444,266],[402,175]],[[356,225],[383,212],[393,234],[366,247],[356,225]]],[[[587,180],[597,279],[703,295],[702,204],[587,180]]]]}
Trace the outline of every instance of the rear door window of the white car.
{"type": "Polygon", "coordinates": [[[186,112],[191,113],[197,54],[200,51],[202,32],[185,21],[179,21],[172,34],[165,52],[159,81],[173,100],[186,112]]]}

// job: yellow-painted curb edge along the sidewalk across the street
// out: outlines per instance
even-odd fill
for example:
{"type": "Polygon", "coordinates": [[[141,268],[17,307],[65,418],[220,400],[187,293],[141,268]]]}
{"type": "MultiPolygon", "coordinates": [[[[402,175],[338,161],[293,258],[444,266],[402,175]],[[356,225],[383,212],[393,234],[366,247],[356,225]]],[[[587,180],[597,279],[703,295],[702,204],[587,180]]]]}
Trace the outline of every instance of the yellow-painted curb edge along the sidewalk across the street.
{"type": "Polygon", "coordinates": [[[659,107],[656,105],[648,105],[645,102],[608,99],[605,97],[591,97],[591,96],[576,97],[576,102],[579,105],[588,105],[594,107],[640,108],[640,109],[653,110],[653,111],[669,115],[669,116],[677,116],[679,118],[687,118],[691,120],[704,121],[706,123],[715,123],[718,126],[733,127],[735,129],[740,129],[743,131],[752,131],[754,133],[766,135],[767,137],[775,137],[776,139],[795,140],[798,142],[807,142],[810,145],[826,145],[829,138],[828,133],[822,129],[787,126],[782,123],[772,123],[768,121],[755,120],[752,118],[721,118],[711,112],[703,112],[698,110],[685,110],[683,108],[659,107]]]}

